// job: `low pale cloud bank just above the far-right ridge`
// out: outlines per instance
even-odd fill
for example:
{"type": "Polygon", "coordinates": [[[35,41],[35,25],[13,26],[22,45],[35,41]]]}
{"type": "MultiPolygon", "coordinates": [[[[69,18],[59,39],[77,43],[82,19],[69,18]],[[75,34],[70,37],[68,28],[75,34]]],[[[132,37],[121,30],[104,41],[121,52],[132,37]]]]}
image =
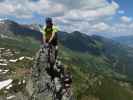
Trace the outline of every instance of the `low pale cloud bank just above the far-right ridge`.
{"type": "Polygon", "coordinates": [[[94,25],[91,25],[90,29],[91,32],[94,34],[99,33],[99,35],[107,37],[127,36],[127,35],[133,35],[133,22],[130,21],[130,23],[129,22],[127,23],[127,21],[123,22],[123,20],[116,23],[99,22],[94,25]]]}

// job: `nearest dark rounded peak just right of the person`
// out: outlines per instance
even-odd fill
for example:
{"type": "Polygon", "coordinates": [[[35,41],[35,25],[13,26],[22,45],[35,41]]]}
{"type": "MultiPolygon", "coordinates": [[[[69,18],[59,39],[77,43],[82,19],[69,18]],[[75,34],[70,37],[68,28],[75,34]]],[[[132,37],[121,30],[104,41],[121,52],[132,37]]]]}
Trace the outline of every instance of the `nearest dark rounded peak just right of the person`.
{"type": "Polygon", "coordinates": [[[79,52],[90,52],[93,54],[100,54],[103,51],[103,45],[94,40],[92,37],[75,31],[70,34],[59,33],[61,43],[71,50],[79,52]]]}

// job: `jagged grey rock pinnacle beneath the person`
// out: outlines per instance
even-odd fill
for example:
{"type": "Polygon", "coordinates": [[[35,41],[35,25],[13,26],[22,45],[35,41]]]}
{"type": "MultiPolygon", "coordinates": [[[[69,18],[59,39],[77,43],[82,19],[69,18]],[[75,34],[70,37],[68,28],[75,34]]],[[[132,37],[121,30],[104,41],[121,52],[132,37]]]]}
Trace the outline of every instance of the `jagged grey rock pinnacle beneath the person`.
{"type": "Polygon", "coordinates": [[[55,59],[55,53],[54,47],[42,47],[37,53],[27,84],[30,100],[74,100],[71,75],[55,59]]]}

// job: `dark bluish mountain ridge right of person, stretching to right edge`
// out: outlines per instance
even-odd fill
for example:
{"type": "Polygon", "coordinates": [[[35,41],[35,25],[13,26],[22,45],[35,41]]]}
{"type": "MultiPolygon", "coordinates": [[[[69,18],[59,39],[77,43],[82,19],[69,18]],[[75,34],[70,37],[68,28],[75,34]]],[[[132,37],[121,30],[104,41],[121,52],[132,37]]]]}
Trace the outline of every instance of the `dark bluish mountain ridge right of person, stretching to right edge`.
{"type": "Polygon", "coordinates": [[[62,32],[59,33],[59,39],[65,47],[81,53],[105,56],[109,59],[107,61],[112,64],[111,68],[114,71],[126,74],[132,79],[132,48],[96,35],[88,36],[80,32],[61,34],[62,32]]]}

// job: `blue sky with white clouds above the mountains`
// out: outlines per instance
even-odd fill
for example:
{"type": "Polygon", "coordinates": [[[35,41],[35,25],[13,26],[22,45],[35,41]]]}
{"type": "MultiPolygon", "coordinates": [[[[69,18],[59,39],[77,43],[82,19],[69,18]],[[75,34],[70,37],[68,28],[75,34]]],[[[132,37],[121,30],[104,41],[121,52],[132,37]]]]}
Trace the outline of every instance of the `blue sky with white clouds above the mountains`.
{"type": "Polygon", "coordinates": [[[133,0],[0,0],[0,18],[106,37],[133,35],[133,0]]]}

